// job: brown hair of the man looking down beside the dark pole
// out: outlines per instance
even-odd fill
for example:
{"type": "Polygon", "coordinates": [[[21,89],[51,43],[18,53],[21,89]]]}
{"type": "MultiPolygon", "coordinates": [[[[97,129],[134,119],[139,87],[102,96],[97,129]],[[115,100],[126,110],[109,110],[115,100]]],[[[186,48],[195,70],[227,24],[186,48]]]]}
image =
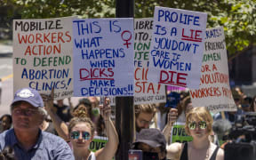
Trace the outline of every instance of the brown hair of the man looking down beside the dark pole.
{"type": "Polygon", "coordinates": [[[153,114],[155,116],[156,114],[156,105],[155,104],[141,104],[141,105],[135,105],[135,116],[138,117],[141,112],[153,114]]]}

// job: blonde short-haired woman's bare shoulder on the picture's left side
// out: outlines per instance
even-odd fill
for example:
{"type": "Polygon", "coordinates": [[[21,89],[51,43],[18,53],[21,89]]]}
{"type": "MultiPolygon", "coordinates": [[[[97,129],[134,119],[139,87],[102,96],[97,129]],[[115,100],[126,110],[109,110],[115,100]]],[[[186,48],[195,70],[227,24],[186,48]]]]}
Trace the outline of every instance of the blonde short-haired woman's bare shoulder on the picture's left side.
{"type": "Polygon", "coordinates": [[[177,159],[180,156],[180,152],[183,148],[182,143],[172,143],[171,145],[166,147],[167,150],[167,158],[169,159],[177,159]]]}

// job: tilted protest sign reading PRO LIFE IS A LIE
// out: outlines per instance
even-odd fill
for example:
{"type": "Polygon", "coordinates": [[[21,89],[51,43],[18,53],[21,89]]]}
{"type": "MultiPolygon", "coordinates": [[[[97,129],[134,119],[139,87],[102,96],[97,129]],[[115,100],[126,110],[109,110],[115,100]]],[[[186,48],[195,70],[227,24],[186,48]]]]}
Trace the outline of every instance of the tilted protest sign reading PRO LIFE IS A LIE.
{"type": "Polygon", "coordinates": [[[195,88],[200,83],[207,14],[156,7],[148,80],[195,88]]]}

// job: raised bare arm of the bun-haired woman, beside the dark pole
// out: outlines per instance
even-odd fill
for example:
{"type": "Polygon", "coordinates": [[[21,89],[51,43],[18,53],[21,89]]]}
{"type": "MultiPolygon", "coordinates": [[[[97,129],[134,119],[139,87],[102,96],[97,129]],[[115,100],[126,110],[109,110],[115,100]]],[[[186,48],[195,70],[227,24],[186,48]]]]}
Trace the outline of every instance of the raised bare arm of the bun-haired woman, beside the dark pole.
{"type": "Polygon", "coordinates": [[[108,135],[108,142],[104,148],[95,152],[95,156],[97,160],[111,160],[113,156],[116,154],[117,146],[119,144],[118,134],[116,132],[116,128],[110,119],[111,107],[108,102],[104,103],[104,106],[100,106],[100,114],[104,118],[104,122],[106,125],[106,131],[108,135]]]}

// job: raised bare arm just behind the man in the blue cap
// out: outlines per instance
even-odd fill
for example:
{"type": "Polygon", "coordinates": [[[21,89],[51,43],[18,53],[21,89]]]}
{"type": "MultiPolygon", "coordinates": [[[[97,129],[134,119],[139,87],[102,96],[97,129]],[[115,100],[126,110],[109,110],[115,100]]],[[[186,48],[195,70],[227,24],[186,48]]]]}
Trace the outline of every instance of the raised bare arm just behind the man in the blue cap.
{"type": "Polygon", "coordinates": [[[52,124],[54,125],[56,132],[58,132],[59,136],[62,139],[69,141],[68,125],[65,124],[65,122],[62,121],[60,117],[53,111],[53,97],[54,97],[53,95],[54,95],[54,90],[52,90],[52,93],[50,96],[42,95],[45,109],[49,114],[49,116],[51,116],[52,124]]]}

